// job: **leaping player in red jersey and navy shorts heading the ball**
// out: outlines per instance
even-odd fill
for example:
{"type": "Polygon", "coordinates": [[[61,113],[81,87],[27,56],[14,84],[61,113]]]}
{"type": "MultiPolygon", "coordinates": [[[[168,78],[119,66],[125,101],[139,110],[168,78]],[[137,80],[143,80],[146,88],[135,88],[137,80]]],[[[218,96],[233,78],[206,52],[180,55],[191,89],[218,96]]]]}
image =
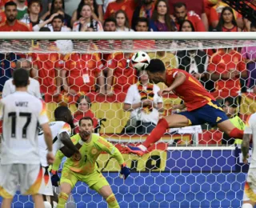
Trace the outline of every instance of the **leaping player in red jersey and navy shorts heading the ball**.
{"type": "Polygon", "coordinates": [[[238,130],[229,121],[215,98],[191,74],[185,70],[166,69],[160,59],[151,59],[149,66],[146,67],[146,72],[151,82],[164,82],[168,86],[168,88],[158,91],[158,95],[162,96],[173,92],[182,98],[184,101],[182,108],[187,110],[161,118],[142,145],[126,146],[128,152],[138,155],[145,154],[150,146],[162,138],[168,128],[201,125],[206,122],[212,126],[217,125],[230,138],[242,138],[243,131],[238,130]]]}

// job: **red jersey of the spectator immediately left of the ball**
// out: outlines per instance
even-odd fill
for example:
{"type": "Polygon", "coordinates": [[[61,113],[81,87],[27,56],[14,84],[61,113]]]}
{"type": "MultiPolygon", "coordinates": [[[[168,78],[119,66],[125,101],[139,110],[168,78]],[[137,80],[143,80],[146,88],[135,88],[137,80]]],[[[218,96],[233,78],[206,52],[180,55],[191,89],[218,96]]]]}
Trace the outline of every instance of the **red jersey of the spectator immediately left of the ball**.
{"type": "MultiPolygon", "coordinates": [[[[129,58],[132,57],[130,54],[129,58]]],[[[125,54],[115,53],[111,54],[108,59],[107,66],[114,70],[113,85],[115,92],[126,93],[128,88],[133,85],[136,80],[136,70],[127,62],[125,54]]]]}

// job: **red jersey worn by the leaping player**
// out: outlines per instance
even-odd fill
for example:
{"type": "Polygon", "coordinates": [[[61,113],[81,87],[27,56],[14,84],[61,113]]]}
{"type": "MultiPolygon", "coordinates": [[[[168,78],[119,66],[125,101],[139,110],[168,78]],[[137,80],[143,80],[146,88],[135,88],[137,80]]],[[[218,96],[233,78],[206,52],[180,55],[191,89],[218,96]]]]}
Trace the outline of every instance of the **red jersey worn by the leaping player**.
{"type": "Polygon", "coordinates": [[[186,80],[182,85],[176,87],[173,92],[179,98],[182,98],[188,111],[205,106],[211,100],[215,101],[215,98],[207,92],[202,84],[185,70],[166,69],[166,86],[171,86],[178,73],[185,74],[186,80]]]}

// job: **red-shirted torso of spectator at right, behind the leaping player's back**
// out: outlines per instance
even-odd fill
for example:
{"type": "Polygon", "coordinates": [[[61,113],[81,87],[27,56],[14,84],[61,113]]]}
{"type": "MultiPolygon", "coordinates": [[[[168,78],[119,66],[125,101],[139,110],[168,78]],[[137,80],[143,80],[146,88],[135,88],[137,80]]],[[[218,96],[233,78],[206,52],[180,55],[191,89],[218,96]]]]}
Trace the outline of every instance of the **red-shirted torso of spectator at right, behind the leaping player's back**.
{"type": "Polygon", "coordinates": [[[241,90],[239,78],[247,78],[246,63],[233,49],[219,49],[210,58],[210,79],[215,82],[215,98],[237,97],[241,90]]]}

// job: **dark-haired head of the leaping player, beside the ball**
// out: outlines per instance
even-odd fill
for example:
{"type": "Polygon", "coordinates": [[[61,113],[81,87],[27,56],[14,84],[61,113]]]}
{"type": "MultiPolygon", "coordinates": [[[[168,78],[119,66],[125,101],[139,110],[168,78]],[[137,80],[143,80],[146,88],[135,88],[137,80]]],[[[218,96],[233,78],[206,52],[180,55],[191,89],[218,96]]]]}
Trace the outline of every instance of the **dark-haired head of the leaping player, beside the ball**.
{"type": "Polygon", "coordinates": [[[149,75],[150,82],[157,84],[166,81],[166,66],[158,58],[150,60],[150,65],[146,67],[146,73],[149,75]]]}

